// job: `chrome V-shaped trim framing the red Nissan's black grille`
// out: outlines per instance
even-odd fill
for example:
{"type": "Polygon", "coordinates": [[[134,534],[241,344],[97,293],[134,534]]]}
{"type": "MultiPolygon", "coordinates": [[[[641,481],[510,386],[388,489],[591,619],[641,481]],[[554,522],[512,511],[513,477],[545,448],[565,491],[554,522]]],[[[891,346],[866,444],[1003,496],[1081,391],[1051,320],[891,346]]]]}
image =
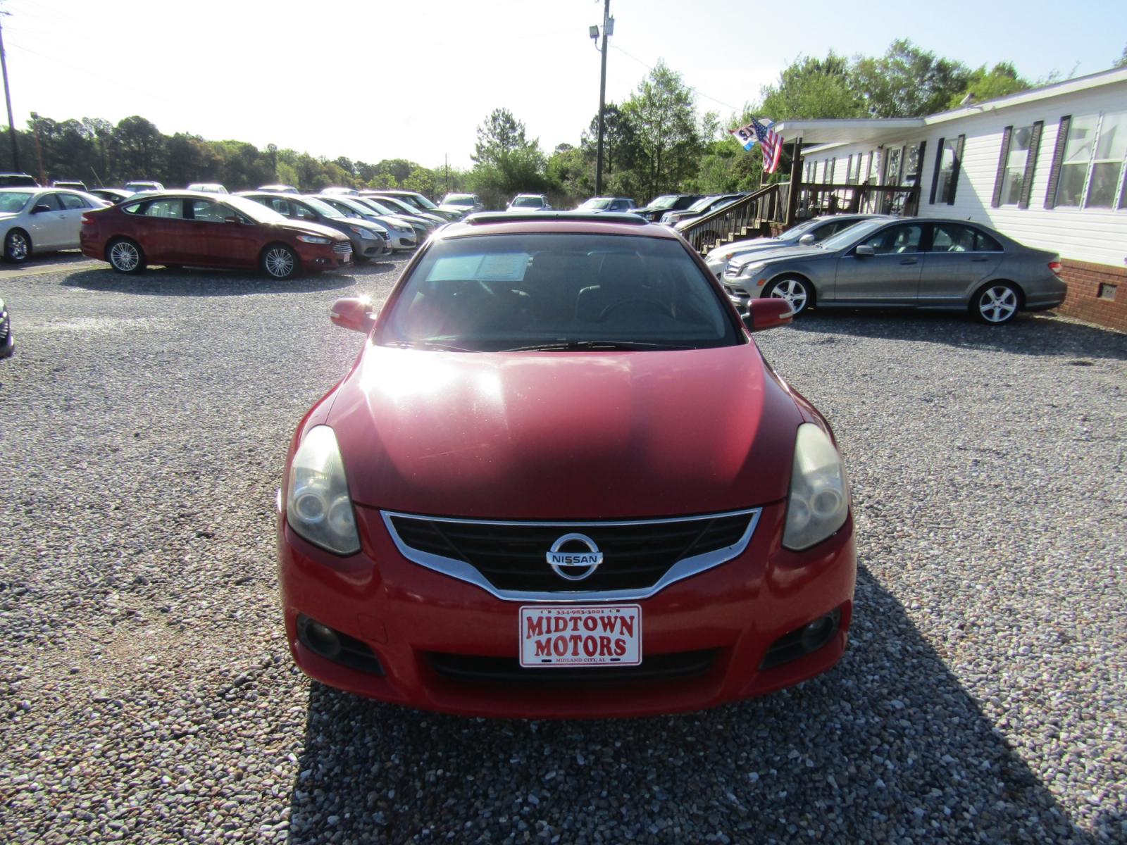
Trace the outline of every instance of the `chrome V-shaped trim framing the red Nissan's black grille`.
{"type": "MultiPolygon", "coordinates": [[[[748,543],[752,542],[752,535],[755,533],[755,526],[758,525],[760,516],[763,514],[763,508],[747,508],[745,510],[726,510],[720,514],[701,514],[696,516],[682,516],[673,517],[668,519],[620,519],[620,521],[601,521],[601,519],[588,519],[585,522],[569,521],[569,522],[536,522],[536,521],[504,521],[504,519],[458,519],[453,517],[440,517],[440,516],[424,516],[421,514],[405,514],[394,510],[381,510],[380,516],[383,518],[383,525],[387,527],[388,533],[391,535],[392,542],[407,560],[412,563],[417,563],[420,567],[431,569],[435,572],[441,572],[442,575],[450,576],[451,578],[456,578],[460,581],[465,581],[467,584],[472,584],[476,587],[489,593],[496,598],[500,598],[505,602],[544,602],[552,604],[567,604],[571,602],[629,602],[638,601],[642,598],[649,598],[660,593],[663,589],[668,587],[671,584],[676,584],[685,578],[691,578],[694,575],[700,575],[709,569],[713,569],[721,563],[727,563],[733,558],[743,554],[744,550],[747,549],[748,543]],[[540,593],[540,592],[524,592],[524,590],[504,590],[498,589],[489,580],[481,575],[470,563],[461,560],[454,560],[453,558],[446,558],[440,554],[434,554],[432,552],[420,551],[414,546],[407,545],[402,537],[399,536],[399,532],[396,531],[394,523],[392,518],[398,517],[402,519],[418,519],[426,522],[436,523],[459,523],[459,524],[487,524],[487,525],[498,525],[498,526],[536,526],[536,527],[553,527],[560,528],[561,533],[564,531],[582,531],[583,528],[591,528],[592,526],[602,527],[613,527],[613,526],[638,526],[638,525],[657,525],[657,524],[668,524],[668,523],[681,523],[681,522],[699,522],[702,519],[717,519],[720,517],[728,516],[740,516],[746,514],[748,517],[747,528],[744,531],[743,535],[731,545],[724,546],[722,549],[716,549],[713,551],[703,552],[702,554],[694,554],[690,558],[684,558],[678,560],[663,575],[656,584],[651,587],[646,587],[644,589],[615,589],[615,590],[567,590],[567,592],[552,592],[552,593],[540,593]]],[[[547,551],[547,550],[545,550],[547,551]]],[[[545,564],[547,566],[547,564],[545,564]]]]}

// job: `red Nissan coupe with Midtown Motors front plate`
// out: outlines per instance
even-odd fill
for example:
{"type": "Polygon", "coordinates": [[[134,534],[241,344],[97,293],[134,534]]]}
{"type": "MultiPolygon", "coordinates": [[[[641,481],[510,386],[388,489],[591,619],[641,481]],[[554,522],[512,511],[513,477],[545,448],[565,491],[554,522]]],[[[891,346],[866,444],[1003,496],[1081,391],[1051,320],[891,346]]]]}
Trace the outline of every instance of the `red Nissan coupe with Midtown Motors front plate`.
{"type": "Polygon", "coordinates": [[[479,214],[435,235],[278,492],[294,660],[340,690],[523,718],[761,695],[845,648],[857,557],[823,416],[667,226],[479,214]]]}

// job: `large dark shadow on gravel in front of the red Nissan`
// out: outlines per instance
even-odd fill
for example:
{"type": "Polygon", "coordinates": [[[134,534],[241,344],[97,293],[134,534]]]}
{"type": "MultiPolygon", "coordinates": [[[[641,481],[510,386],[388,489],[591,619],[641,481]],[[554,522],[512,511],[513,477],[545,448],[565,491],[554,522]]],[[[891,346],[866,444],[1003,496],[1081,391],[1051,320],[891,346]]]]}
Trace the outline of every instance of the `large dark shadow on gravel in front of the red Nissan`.
{"type": "Polygon", "coordinates": [[[831,673],[701,713],[463,719],[314,683],[287,840],[1094,843],[1121,833],[1119,817],[1097,818],[1094,835],[1070,819],[863,568],[857,599],[852,642],[831,673]]]}

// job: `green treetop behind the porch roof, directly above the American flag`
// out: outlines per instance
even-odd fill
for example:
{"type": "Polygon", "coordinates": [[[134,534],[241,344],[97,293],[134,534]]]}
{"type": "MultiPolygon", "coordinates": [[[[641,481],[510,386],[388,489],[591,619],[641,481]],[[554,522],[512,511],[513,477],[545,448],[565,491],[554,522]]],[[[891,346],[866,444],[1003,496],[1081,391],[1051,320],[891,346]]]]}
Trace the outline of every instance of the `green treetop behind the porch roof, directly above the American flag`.
{"type": "MultiPolygon", "coordinates": [[[[824,117],[861,117],[861,97],[850,84],[849,62],[833,51],[825,59],[799,56],[779,73],[779,81],[764,86],[756,115],[772,121],[824,117]]],[[[746,125],[752,112],[745,112],[746,125]]]]}

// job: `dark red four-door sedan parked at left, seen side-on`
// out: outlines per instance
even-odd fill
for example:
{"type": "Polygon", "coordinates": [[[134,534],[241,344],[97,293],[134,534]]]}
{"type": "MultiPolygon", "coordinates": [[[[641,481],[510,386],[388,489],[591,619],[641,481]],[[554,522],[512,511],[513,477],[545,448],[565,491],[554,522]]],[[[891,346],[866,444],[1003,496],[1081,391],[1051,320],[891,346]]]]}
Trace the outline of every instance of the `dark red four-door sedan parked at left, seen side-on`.
{"type": "Polygon", "coordinates": [[[86,212],[82,254],[118,273],[165,266],[260,268],[272,278],[352,265],[352,243],[335,229],[286,220],[239,196],[194,190],[143,194],[86,212]]]}

